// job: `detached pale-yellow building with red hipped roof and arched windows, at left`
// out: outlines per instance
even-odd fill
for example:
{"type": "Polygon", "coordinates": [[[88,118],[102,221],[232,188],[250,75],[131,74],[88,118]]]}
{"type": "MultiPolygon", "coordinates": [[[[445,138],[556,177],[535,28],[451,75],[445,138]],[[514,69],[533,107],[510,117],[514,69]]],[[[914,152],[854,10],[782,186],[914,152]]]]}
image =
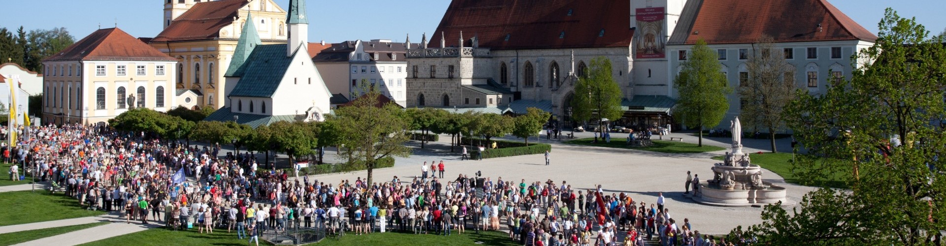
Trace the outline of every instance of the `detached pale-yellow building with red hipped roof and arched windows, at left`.
{"type": "Polygon", "coordinates": [[[176,65],[119,28],[98,29],[43,61],[43,122],[107,124],[131,107],[165,112],[178,105],[176,65]]]}

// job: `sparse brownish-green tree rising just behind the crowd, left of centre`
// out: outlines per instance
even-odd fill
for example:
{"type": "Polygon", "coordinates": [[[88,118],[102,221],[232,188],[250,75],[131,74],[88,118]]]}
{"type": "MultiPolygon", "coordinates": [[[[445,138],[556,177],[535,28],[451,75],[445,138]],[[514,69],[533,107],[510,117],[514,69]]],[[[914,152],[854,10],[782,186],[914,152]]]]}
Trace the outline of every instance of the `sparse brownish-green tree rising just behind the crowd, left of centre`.
{"type": "Polygon", "coordinates": [[[411,136],[409,123],[399,115],[402,110],[393,103],[377,107],[378,94],[368,90],[366,97],[355,99],[351,106],[335,110],[335,115],[326,119],[343,136],[339,140],[347,147],[344,154],[350,156],[349,163],[360,162],[368,169],[368,184],[372,184],[378,159],[411,155],[411,149],[404,146],[411,136]]]}

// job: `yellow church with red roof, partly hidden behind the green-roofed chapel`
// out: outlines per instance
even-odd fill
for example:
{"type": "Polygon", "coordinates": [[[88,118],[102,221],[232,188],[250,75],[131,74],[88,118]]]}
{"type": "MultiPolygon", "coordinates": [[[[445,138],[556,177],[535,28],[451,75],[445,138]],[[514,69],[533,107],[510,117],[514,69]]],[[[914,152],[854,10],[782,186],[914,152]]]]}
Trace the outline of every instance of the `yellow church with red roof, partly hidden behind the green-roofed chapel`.
{"type": "Polygon", "coordinates": [[[262,44],[286,43],[287,13],[272,0],[165,0],[165,29],[143,40],[177,59],[176,93],[196,97],[187,106],[223,106],[223,74],[251,12],[262,44]]]}

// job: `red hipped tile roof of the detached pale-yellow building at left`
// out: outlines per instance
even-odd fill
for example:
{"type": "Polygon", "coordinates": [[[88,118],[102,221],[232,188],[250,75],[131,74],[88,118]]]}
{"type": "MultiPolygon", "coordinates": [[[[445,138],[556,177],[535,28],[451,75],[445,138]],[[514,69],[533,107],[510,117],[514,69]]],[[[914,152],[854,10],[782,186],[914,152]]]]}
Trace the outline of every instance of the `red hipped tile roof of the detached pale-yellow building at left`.
{"type": "Polygon", "coordinates": [[[177,61],[115,28],[98,29],[43,62],[58,61],[177,61]]]}

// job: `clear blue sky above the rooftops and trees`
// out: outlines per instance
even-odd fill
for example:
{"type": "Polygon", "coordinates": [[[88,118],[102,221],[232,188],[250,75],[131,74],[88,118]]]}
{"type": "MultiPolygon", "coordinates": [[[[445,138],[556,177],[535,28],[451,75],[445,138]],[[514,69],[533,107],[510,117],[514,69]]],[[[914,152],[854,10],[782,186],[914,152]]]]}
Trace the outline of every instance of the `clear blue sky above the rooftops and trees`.
{"type": "MultiPolygon", "coordinates": [[[[620,1],[620,0],[618,0],[620,1]]],[[[757,0],[751,0],[757,1],[757,0]]],[[[761,1],[761,0],[758,0],[761,1]]],[[[289,0],[275,0],[286,9],[289,0]]],[[[327,1],[308,0],[309,42],[324,40],[339,43],[346,40],[391,39],[403,42],[410,33],[419,42],[424,32],[432,33],[449,0],[408,1],[327,1]]],[[[895,10],[904,17],[916,17],[932,35],[946,27],[943,0],[830,0],[850,18],[871,32],[884,9],[897,2],[895,10]]],[[[102,27],[118,27],[135,37],[154,37],[161,32],[164,0],[33,0],[17,1],[0,14],[0,26],[26,30],[66,27],[77,40],[102,27]],[[26,9],[26,10],[25,10],[26,9]],[[42,10],[45,9],[45,10],[42,10]]]]}

